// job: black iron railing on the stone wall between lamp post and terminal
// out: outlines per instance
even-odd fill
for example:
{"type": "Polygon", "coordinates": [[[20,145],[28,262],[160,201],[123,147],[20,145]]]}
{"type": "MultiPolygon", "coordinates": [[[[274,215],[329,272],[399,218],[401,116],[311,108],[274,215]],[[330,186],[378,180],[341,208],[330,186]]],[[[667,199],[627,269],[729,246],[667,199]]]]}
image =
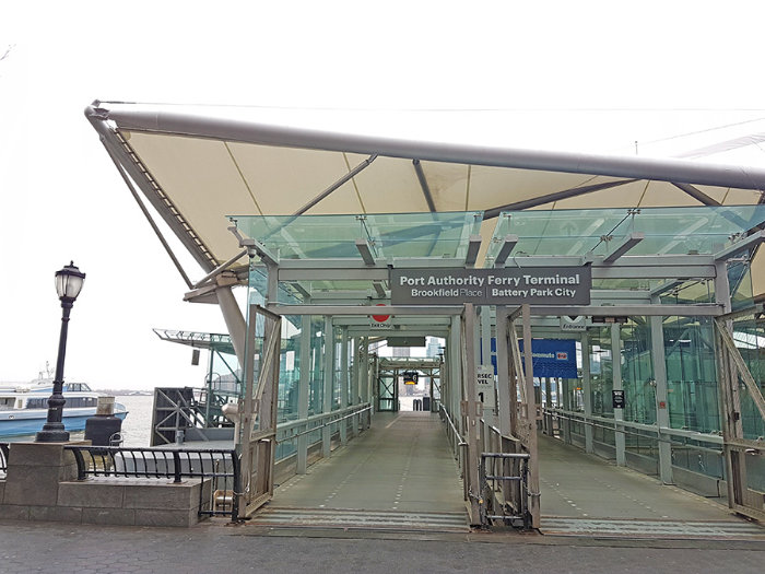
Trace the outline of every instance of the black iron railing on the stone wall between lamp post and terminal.
{"type": "Polygon", "coordinates": [[[99,478],[201,479],[199,515],[238,516],[239,457],[236,450],[67,446],[78,480],[99,478]],[[207,489],[204,482],[211,481],[207,489]],[[205,504],[204,496],[208,495],[205,504]]]}

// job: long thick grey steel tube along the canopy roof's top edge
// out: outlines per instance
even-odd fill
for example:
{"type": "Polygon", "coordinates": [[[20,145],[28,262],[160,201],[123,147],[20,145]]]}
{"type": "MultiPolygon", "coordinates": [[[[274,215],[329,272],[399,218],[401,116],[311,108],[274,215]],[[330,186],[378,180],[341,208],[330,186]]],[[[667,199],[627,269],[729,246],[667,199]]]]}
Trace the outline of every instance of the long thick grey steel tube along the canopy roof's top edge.
{"type": "Polygon", "coordinates": [[[596,155],[581,152],[491,148],[479,144],[425,142],[377,136],[273,126],[232,117],[201,117],[168,106],[140,109],[129,104],[99,104],[103,119],[128,130],[213,138],[226,141],[287,145],[345,153],[379,154],[520,169],[682,181],[686,184],[765,189],[765,169],[701,164],[688,160],[596,155]],[[107,108],[107,106],[109,106],[107,108]]]}

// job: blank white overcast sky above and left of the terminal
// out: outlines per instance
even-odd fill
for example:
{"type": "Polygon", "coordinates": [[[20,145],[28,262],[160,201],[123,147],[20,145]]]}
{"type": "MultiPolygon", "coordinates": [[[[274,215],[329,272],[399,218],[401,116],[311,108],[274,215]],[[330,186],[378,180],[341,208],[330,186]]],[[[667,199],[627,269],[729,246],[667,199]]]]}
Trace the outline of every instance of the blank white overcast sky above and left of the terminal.
{"type": "MultiPolygon", "coordinates": [[[[183,301],[184,281],[83,116],[96,98],[258,106],[274,122],[624,154],[765,132],[762,2],[516,4],[4,5],[0,382],[56,364],[54,273],[70,260],[87,278],[68,380],[198,386],[204,365],[152,328],[225,330],[215,306],[183,301]]],[[[762,167],[764,157],[755,145],[727,161],[762,167]]]]}

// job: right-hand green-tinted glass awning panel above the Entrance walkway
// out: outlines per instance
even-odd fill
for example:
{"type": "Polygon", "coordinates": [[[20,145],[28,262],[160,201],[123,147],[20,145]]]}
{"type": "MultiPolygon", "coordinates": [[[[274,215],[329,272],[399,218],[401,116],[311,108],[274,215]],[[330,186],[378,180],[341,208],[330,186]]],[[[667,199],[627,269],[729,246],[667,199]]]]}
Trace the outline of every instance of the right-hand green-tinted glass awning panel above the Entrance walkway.
{"type": "Polygon", "coordinates": [[[765,206],[513,211],[499,214],[486,251],[496,258],[506,235],[518,236],[513,255],[600,255],[631,233],[645,238],[628,255],[709,255],[765,221],[765,206]]]}

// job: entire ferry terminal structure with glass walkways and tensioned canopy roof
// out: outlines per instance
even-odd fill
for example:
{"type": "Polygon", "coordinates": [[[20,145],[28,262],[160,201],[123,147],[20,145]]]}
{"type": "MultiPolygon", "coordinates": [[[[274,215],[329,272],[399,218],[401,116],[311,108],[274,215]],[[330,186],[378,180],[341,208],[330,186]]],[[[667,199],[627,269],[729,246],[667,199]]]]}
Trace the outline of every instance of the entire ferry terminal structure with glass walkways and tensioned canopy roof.
{"type": "Polygon", "coordinates": [[[246,115],[86,109],[186,300],[225,318],[209,380],[222,362],[235,387],[232,519],[644,537],[765,518],[765,172],[246,115]],[[428,338],[434,356],[379,352],[428,338]],[[401,412],[408,384],[422,411],[401,412]]]}

